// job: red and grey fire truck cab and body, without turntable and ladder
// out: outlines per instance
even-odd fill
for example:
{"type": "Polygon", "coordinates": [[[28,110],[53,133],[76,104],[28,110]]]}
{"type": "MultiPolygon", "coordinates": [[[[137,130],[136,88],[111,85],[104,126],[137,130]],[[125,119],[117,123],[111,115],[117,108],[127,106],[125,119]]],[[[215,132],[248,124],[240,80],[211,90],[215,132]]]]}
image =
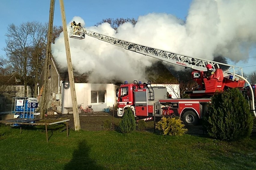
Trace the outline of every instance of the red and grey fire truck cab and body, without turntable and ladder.
{"type": "Polygon", "coordinates": [[[196,124],[211,102],[210,98],[168,99],[166,93],[165,87],[152,87],[150,81],[125,82],[117,89],[117,115],[123,116],[124,110],[130,107],[137,117],[181,116],[187,124],[196,124]]]}

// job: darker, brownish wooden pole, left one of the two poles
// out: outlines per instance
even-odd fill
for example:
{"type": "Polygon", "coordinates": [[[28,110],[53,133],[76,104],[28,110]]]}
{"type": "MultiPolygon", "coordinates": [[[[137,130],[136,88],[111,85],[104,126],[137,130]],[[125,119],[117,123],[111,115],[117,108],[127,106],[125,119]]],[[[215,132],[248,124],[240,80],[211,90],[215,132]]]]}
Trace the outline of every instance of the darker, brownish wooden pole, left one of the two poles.
{"type": "Polygon", "coordinates": [[[55,0],[50,1],[50,13],[49,13],[49,23],[47,32],[47,45],[46,45],[46,56],[44,61],[44,85],[41,100],[41,114],[40,118],[44,118],[46,112],[46,96],[48,87],[48,77],[49,77],[49,64],[51,61],[51,40],[52,40],[52,30],[53,30],[53,16],[54,16],[54,4],[55,0]]]}

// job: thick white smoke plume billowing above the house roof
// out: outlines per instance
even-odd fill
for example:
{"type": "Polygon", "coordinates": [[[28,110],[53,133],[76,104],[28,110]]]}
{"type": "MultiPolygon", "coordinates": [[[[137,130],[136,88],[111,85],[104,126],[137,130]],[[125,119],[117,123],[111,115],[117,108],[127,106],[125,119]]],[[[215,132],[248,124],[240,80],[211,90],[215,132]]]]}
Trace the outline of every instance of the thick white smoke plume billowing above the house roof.
{"type": "MultiPolygon", "coordinates": [[[[222,55],[235,62],[246,61],[256,47],[254,7],[256,1],[251,0],[195,0],[185,21],[166,13],[149,13],[139,16],[134,27],[121,25],[117,33],[108,23],[86,29],[196,58],[212,60],[222,55]]],[[[85,27],[80,17],[73,20],[85,27]]],[[[74,69],[91,72],[90,82],[146,81],[145,67],[158,61],[89,36],[84,40],[70,38],[69,43],[74,69]]],[[[63,33],[52,44],[52,54],[57,63],[67,67],[63,33]]]]}

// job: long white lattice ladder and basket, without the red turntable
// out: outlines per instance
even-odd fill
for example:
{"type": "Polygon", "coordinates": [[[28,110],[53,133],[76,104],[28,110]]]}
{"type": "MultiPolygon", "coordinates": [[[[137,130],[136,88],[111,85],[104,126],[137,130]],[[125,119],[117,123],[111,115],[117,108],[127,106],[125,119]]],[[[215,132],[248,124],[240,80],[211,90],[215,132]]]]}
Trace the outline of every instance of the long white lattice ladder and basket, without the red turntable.
{"type": "Polygon", "coordinates": [[[110,36],[99,34],[93,31],[86,30],[83,27],[77,27],[77,26],[70,27],[69,37],[71,38],[84,39],[85,34],[87,34],[90,37],[98,38],[99,40],[111,43],[115,46],[119,46],[133,52],[137,52],[143,55],[148,55],[150,57],[157,58],[162,61],[180,65],[183,67],[189,67],[194,70],[206,71],[207,64],[211,64],[213,68],[220,68],[220,66],[226,66],[227,69],[223,70],[223,76],[230,80],[239,80],[240,76],[243,77],[242,67],[236,67],[233,65],[223,64],[223,63],[210,61],[202,58],[189,57],[189,56],[165,51],[162,49],[156,49],[149,46],[144,46],[137,43],[120,40],[114,37],[110,37],[110,36]],[[240,75],[240,76],[237,76],[237,75],[240,75]]]}

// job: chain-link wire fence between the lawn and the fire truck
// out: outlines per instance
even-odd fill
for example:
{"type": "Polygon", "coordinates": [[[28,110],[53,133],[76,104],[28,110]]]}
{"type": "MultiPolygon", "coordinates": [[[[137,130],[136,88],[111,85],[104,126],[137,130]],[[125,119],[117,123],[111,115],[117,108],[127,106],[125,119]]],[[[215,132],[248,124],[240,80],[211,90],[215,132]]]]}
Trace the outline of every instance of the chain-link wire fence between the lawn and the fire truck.
{"type": "MultiPolygon", "coordinates": [[[[119,122],[122,117],[117,116],[117,109],[114,106],[109,109],[100,109],[93,106],[81,106],[78,105],[79,121],[82,130],[98,131],[98,130],[115,130],[119,131],[119,122]]],[[[193,112],[193,109],[187,109],[184,111],[184,115],[181,115],[182,122],[186,125],[189,134],[203,134],[202,126],[191,126],[188,121],[199,121],[198,116],[193,112]],[[193,117],[194,116],[194,117],[193,117]]],[[[137,116],[136,130],[147,132],[160,132],[155,129],[155,125],[162,117],[175,117],[180,118],[178,114],[178,108],[162,108],[161,116],[137,116]]],[[[63,109],[62,113],[54,111],[48,111],[47,119],[70,119],[69,128],[75,129],[74,115],[72,108],[63,109]]],[[[197,122],[198,123],[198,122],[197,122]]]]}

